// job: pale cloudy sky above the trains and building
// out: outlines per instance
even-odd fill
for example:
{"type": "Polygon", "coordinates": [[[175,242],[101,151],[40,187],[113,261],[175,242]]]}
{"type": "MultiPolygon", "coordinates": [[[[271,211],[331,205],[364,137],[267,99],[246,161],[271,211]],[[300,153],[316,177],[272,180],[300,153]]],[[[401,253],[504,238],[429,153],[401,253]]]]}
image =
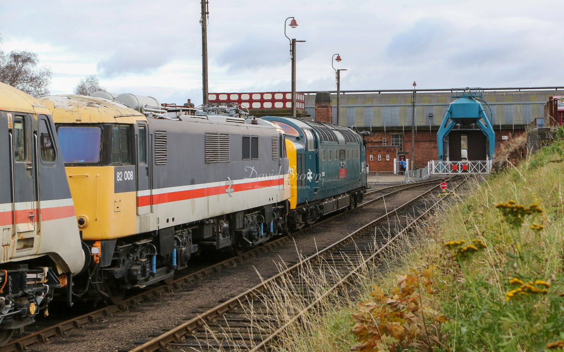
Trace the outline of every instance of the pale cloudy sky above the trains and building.
{"type": "MultiPolygon", "coordinates": [[[[557,86],[563,3],[523,0],[209,0],[210,92],[557,86]]],[[[200,104],[199,0],[0,0],[0,49],[51,67],[51,92],[96,74],[109,92],[200,104]]]]}

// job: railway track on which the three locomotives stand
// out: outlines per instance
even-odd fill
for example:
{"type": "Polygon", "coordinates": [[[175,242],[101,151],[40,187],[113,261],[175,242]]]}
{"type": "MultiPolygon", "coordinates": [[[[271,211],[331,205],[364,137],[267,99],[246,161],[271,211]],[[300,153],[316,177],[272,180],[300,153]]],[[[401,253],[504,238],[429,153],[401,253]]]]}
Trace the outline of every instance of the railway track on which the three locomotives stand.
{"type": "MultiPolygon", "coordinates": [[[[365,202],[359,204],[359,206],[356,207],[355,209],[366,207],[369,204],[384,199],[384,197],[389,197],[390,195],[397,194],[406,189],[412,189],[425,185],[436,184],[437,182],[438,182],[437,180],[430,180],[430,181],[418,182],[416,184],[394,185],[377,190],[368,191],[365,194],[365,202]]],[[[297,233],[294,233],[292,235],[298,235],[299,233],[307,233],[309,231],[312,231],[317,226],[324,224],[325,222],[332,221],[338,217],[346,216],[347,213],[354,210],[341,212],[336,215],[327,217],[326,219],[319,221],[315,225],[297,231],[297,233]]],[[[73,317],[70,319],[65,319],[65,320],[59,319],[59,321],[55,322],[49,327],[45,327],[45,328],[35,327],[36,331],[29,333],[28,335],[15,338],[6,346],[3,346],[0,350],[10,351],[10,352],[23,351],[28,346],[37,343],[46,342],[51,337],[63,336],[71,329],[81,328],[85,324],[95,322],[98,319],[106,319],[108,317],[111,317],[112,314],[118,313],[119,311],[127,310],[130,307],[138,305],[143,301],[147,301],[150,300],[151,298],[158,297],[166,292],[174,291],[180,288],[183,284],[191,283],[195,280],[208,277],[209,275],[215,273],[216,271],[221,270],[223,268],[227,268],[228,266],[237,265],[237,263],[240,263],[246,259],[257,256],[259,253],[266,252],[272,248],[280,246],[281,244],[290,240],[291,237],[292,236],[289,237],[287,236],[273,240],[267,243],[265,246],[250,249],[249,251],[241,254],[240,256],[231,257],[229,259],[223,260],[206,268],[197,271],[192,271],[191,273],[188,274],[184,274],[182,275],[182,277],[175,279],[173,282],[169,284],[163,284],[161,286],[147,288],[145,291],[139,293],[138,295],[134,295],[126,298],[120,304],[105,306],[103,308],[90,311],[89,313],[82,314],[78,317],[73,317]]]]}

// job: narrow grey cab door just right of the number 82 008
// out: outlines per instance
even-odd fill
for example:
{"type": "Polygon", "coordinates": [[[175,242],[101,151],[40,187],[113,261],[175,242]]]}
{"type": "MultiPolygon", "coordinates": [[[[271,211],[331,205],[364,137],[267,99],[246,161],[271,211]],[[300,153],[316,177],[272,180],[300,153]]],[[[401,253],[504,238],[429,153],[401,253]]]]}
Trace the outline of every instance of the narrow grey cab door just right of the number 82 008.
{"type": "Polygon", "coordinates": [[[149,153],[147,124],[138,122],[135,126],[137,150],[137,215],[151,212],[151,190],[149,188],[149,153]]]}

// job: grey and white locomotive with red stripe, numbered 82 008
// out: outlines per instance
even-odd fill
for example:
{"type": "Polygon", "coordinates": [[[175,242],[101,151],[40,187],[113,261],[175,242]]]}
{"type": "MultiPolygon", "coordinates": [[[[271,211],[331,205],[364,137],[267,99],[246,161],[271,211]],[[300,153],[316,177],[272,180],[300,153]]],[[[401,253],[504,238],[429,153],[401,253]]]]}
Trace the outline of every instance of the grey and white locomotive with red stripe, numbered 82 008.
{"type": "Polygon", "coordinates": [[[97,97],[41,101],[52,112],[90,248],[77,296],[118,302],[128,288],[171,279],[197,251],[238,252],[285,230],[290,179],[281,128],[169,117],[97,97]]]}

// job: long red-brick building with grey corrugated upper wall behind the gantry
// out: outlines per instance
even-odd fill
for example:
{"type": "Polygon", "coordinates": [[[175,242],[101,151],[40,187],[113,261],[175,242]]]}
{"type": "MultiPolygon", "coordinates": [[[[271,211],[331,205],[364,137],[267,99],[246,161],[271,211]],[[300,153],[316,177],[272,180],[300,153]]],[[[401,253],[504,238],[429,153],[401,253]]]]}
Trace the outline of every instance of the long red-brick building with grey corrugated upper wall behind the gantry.
{"type": "MultiPolygon", "coordinates": [[[[412,168],[421,168],[430,160],[437,160],[437,132],[448,104],[456,96],[455,90],[403,91],[377,93],[345,93],[340,100],[340,118],[337,121],[337,96],[305,92],[305,110],[311,119],[356,126],[372,134],[366,137],[367,164],[370,171],[399,170],[394,159],[408,160],[412,168]],[[329,95],[331,99],[329,99],[329,95]],[[413,104],[415,96],[415,104],[413,104]],[[319,100],[319,101],[318,101],[319,100]],[[331,104],[329,104],[331,101],[331,104]],[[413,114],[415,105],[415,114],[413,114]],[[412,153],[412,118],[413,153],[412,153]],[[413,155],[412,155],[413,154],[413,155]]],[[[495,131],[496,150],[506,140],[525,132],[527,124],[544,117],[544,104],[554,95],[563,95],[562,87],[547,89],[484,89],[486,112],[495,131]],[[560,90],[558,90],[558,89],[560,90]]],[[[483,133],[474,125],[456,126],[449,138],[481,139],[483,133]]],[[[464,143],[464,142],[462,142],[464,143]]],[[[470,151],[468,151],[470,152],[470,151]]],[[[470,155],[469,155],[470,157],[470,155]]]]}

